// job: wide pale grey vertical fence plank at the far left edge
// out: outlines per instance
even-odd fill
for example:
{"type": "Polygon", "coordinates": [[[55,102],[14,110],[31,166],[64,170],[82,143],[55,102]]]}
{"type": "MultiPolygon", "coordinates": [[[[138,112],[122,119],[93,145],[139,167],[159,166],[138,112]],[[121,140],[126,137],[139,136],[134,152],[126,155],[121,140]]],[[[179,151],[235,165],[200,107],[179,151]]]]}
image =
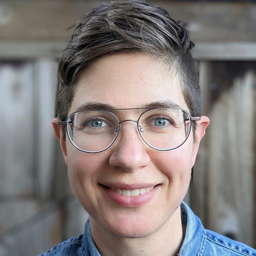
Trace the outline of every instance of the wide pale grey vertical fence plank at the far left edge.
{"type": "Polygon", "coordinates": [[[2,63],[0,84],[0,195],[32,195],[35,156],[33,63],[2,63]]]}

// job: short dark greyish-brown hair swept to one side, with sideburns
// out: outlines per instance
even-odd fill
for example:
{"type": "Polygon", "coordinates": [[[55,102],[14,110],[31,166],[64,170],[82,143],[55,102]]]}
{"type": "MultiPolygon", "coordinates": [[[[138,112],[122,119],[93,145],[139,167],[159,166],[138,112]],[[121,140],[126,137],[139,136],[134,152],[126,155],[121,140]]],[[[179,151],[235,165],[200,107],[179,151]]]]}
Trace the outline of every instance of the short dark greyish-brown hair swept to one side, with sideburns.
{"type": "MultiPolygon", "coordinates": [[[[151,54],[175,67],[191,116],[201,116],[198,72],[190,53],[194,44],[166,10],[139,0],[116,1],[92,9],[74,26],[58,65],[55,116],[60,120],[67,119],[79,75],[95,60],[121,52],[151,54]]],[[[192,123],[195,135],[196,122],[192,123]]]]}

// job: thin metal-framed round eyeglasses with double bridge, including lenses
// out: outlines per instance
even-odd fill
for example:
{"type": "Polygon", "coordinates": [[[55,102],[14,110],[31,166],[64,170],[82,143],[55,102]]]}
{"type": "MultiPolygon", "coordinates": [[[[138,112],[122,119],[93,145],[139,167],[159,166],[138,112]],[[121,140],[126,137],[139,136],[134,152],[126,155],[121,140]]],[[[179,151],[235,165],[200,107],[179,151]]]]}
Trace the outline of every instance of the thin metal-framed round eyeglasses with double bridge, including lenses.
{"type": "Polygon", "coordinates": [[[200,120],[182,108],[129,109],[146,111],[138,120],[119,121],[112,112],[128,109],[83,110],[70,114],[67,121],[59,121],[58,125],[67,125],[68,138],[77,149],[99,153],[114,143],[124,122],[135,122],[149,147],[166,151],[180,147],[188,139],[192,121],[200,120]]]}

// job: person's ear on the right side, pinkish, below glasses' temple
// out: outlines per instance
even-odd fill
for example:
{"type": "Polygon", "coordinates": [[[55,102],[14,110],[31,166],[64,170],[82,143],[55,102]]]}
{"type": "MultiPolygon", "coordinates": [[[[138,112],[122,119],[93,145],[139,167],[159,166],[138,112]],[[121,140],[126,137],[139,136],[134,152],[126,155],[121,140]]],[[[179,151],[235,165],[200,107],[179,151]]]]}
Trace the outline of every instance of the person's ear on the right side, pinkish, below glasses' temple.
{"type": "Polygon", "coordinates": [[[207,116],[201,116],[201,119],[196,122],[197,122],[196,135],[195,135],[196,142],[193,145],[191,168],[195,164],[200,140],[203,138],[203,136],[205,134],[205,129],[208,126],[208,124],[210,123],[210,120],[207,116]]]}

